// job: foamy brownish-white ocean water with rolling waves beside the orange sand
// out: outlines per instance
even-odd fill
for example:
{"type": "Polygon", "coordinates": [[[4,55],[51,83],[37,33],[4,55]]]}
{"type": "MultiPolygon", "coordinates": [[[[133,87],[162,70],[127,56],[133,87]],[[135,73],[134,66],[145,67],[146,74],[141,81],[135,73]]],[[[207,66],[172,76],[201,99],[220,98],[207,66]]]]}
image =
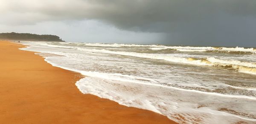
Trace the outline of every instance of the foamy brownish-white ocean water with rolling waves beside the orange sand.
{"type": "Polygon", "coordinates": [[[21,42],[79,72],[82,93],[183,124],[256,123],[256,48],[21,42]]]}

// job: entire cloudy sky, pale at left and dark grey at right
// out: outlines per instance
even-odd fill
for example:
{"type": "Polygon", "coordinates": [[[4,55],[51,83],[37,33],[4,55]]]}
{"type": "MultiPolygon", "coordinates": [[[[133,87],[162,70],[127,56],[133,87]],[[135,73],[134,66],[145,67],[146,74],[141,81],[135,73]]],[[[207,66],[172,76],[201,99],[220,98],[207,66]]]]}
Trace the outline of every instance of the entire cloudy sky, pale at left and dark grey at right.
{"type": "Polygon", "coordinates": [[[256,47],[256,0],[0,0],[0,32],[67,42],[256,47]]]}

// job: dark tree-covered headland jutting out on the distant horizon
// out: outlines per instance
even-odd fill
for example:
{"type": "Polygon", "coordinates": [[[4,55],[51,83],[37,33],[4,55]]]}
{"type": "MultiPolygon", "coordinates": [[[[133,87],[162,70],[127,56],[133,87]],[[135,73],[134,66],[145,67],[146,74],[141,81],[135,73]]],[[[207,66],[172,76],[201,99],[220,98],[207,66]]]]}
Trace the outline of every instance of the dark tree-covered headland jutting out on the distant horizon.
{"type": "Polygon", "coordinates": [[[25,40],[25,41],[55,41],[55,42],[64,42],[60,37],[56,35],[38,35],[38,34],[29,34],[29,33],[0,33],[0,39],[6,40],[25,40]]]}

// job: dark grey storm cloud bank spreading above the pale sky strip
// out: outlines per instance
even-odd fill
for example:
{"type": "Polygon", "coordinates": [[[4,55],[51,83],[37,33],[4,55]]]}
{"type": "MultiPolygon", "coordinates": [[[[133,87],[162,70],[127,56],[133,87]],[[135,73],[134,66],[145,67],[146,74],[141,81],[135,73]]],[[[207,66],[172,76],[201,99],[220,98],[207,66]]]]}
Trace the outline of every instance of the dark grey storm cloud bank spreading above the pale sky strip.
{"type": "Polygon", "coordinates": [[[122,30],[166,34],[161,42],[166,44],[256,45],[256,0],[1,1],[6,5],[0,5],[2,24],[92,19],[122,30]],[[14,21],[17,17],[23,21],[14,21]]]}

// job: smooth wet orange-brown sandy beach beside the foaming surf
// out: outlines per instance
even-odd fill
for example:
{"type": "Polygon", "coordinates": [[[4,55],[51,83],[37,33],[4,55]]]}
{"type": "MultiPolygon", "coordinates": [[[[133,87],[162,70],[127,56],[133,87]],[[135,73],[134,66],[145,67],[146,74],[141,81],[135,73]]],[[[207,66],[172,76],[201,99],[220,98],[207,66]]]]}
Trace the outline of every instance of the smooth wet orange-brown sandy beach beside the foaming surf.
{"type": "Polygon", "coordinates": [[[166,116],[126,107],[76,87],[80,73],[53,67],[24,47],[0,41],[2,124],[174,124],[166,116]]]}

